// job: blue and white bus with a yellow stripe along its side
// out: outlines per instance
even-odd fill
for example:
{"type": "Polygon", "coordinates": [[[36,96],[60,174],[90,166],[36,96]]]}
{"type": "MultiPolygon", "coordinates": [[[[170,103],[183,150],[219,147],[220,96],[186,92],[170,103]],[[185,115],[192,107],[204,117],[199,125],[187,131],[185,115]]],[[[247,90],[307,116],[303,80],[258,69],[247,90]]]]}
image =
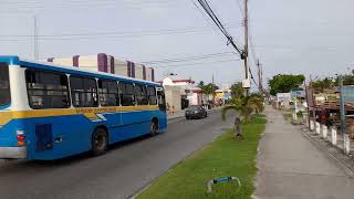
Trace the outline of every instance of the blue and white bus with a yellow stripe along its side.
{"type": "Polygon", "coordinates": [[[154,82],[0,56],[0,158],[52,160],[167,127],[154,82]]]}

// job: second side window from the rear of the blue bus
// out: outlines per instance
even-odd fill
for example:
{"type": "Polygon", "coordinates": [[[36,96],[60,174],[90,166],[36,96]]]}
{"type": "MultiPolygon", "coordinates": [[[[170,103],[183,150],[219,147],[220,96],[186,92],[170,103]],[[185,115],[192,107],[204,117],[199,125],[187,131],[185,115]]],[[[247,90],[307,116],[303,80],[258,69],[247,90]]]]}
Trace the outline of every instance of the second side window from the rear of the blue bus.
{"type": "Polygon", "coordinates": [[[97,85],[95,78],[71,76],[71,97],[75,107],[97,107],[97,85]]]}

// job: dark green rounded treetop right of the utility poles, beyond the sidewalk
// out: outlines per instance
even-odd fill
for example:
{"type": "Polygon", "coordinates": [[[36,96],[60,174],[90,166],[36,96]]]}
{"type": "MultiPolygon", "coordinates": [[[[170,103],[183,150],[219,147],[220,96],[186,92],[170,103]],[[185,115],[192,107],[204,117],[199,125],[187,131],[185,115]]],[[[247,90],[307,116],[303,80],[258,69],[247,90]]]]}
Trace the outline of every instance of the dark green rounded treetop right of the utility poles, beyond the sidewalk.
{"type": "Polygon", "coordinates": [[[277,93],[289,93],[293,90],[299,90],[300,85],[305,81],[305,76],[292,75],[292,74],[278,74],[269,81],[270,94],[275,95],[277,93]]]}

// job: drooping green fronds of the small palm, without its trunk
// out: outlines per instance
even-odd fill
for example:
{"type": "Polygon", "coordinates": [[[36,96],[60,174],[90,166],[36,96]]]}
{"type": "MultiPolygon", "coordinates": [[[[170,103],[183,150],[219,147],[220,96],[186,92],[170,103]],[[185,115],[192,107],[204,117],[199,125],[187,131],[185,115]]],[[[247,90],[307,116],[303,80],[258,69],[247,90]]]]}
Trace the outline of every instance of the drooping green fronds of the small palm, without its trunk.
{"type": "Polygon", "coordinates": [[[236,111],[238,116],[241,116],[244,124],[251,121],[251,114],[257,114],[264,111],[264,98],[260,94],[251,94],[247,97],[232,98],[230,104],[221,109],[221,117],[226,119],[226,113],[230,109],[236,111]]]}

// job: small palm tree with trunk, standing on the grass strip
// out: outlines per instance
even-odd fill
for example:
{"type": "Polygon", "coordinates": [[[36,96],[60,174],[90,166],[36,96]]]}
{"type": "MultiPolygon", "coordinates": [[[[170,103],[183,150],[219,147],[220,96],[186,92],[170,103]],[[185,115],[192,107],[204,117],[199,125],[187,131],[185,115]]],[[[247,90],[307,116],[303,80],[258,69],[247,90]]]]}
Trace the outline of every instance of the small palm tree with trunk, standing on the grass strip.
{"type": "Polygon", "coordinates": [[[251,114],[253,112],[261,113],[264,109],[263,97],[258,94],[252,94],[247,97],[238,97],[231,100],[230,105],[221,109],[221,117],[226,121],[226,114],[228,111],[233,109],[236,112],[235,119],[235,136],[236,138],[242,138],[241,124],[248,124],[251,122],[251,114]]]}

